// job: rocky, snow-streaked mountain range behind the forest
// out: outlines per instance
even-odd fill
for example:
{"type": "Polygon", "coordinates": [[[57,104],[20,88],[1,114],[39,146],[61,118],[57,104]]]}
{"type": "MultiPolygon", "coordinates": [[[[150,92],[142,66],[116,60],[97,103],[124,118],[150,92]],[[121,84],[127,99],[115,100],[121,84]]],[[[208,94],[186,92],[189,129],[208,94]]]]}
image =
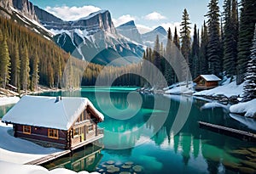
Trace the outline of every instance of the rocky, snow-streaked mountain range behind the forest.
{"type": "Polygon", "coordinates": [[[119,66],[141,61],[145,46],[154,47],[156,35],[166,44],[167,33],[163,27],[143,35],[134,21],[115,28],[108,10],[64,21],[28,0],[0,0],[0,9],[0,15],[18,20],[78,59],[100,65],[119,66]]]}

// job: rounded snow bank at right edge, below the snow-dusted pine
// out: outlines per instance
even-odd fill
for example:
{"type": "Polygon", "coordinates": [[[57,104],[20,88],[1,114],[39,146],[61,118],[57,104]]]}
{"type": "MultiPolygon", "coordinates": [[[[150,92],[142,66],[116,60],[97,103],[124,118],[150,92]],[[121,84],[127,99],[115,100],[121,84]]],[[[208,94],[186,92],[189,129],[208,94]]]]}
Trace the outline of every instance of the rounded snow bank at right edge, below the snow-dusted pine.
{"type": "Polygon", "coordinates": [[[234,114],[245,114],[247,117],[256,117],[256,99],[230,106],[230,112],[234,114]]]}

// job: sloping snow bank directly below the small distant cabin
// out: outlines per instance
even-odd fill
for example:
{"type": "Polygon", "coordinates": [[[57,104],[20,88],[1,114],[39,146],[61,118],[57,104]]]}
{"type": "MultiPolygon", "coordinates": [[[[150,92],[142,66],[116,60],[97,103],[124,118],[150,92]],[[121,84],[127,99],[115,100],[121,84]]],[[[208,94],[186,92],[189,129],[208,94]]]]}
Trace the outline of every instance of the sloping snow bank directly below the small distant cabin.
{"type": "Polygon", "coordinates": [[[236,85],[236,81],[224,84],[223,86],[215,87],[213,89],[204,90],[201,92],[194,93],[195,96],[216,96],[224,95],[230,98],[232,95],[239,96],[243,93],[243,83],[241,85],[236,85]]]}

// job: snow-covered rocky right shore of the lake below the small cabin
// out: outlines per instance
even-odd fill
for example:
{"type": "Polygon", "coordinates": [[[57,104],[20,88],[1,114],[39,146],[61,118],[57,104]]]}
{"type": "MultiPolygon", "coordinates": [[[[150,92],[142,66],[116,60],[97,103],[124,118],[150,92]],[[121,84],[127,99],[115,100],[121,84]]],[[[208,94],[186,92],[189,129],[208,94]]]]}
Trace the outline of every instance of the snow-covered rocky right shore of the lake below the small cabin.
{"type": "Polygon", "coordinates": [[[189,87],[185,86],[184,82],[180,82],[177,84],[173,84],[170,87],[166,87],[163,90],[165,91],[165,95],[184,95],[192,93],[193,98],[201,99],[207,101],[202,109],[209,107],[223,107],[229,110],[230,114],[238,114],[246,117],[256,118],[256,99],[251,100],[246,103],[242,103],[241,96],[243,93],[244,83],[240,85],[236,85],[236,81],[231,81],[227,79],[224,81],[222,86],[214,87],[209,90],[204,90],[201,92],[192,91],[192,83],[189,83],[189,87]],[[230,106],[224,106],[224,104],[218,104],[217,101],[228,103],[235,103],[230,106]],[[238,104],[237,104],[238,103],[238,104]]]}

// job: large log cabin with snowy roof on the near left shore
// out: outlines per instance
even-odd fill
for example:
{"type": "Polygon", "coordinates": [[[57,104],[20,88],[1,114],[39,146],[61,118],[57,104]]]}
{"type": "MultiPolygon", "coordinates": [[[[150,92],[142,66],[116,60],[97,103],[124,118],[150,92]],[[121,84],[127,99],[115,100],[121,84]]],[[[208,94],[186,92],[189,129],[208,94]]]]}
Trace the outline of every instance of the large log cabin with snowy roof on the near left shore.
{"type": "Polygon", "coordinates": [[[23,96],[2,121],[15,138],[59,149],[77,149],[103,138],[104,116],[88,98],[23,96]]]}

